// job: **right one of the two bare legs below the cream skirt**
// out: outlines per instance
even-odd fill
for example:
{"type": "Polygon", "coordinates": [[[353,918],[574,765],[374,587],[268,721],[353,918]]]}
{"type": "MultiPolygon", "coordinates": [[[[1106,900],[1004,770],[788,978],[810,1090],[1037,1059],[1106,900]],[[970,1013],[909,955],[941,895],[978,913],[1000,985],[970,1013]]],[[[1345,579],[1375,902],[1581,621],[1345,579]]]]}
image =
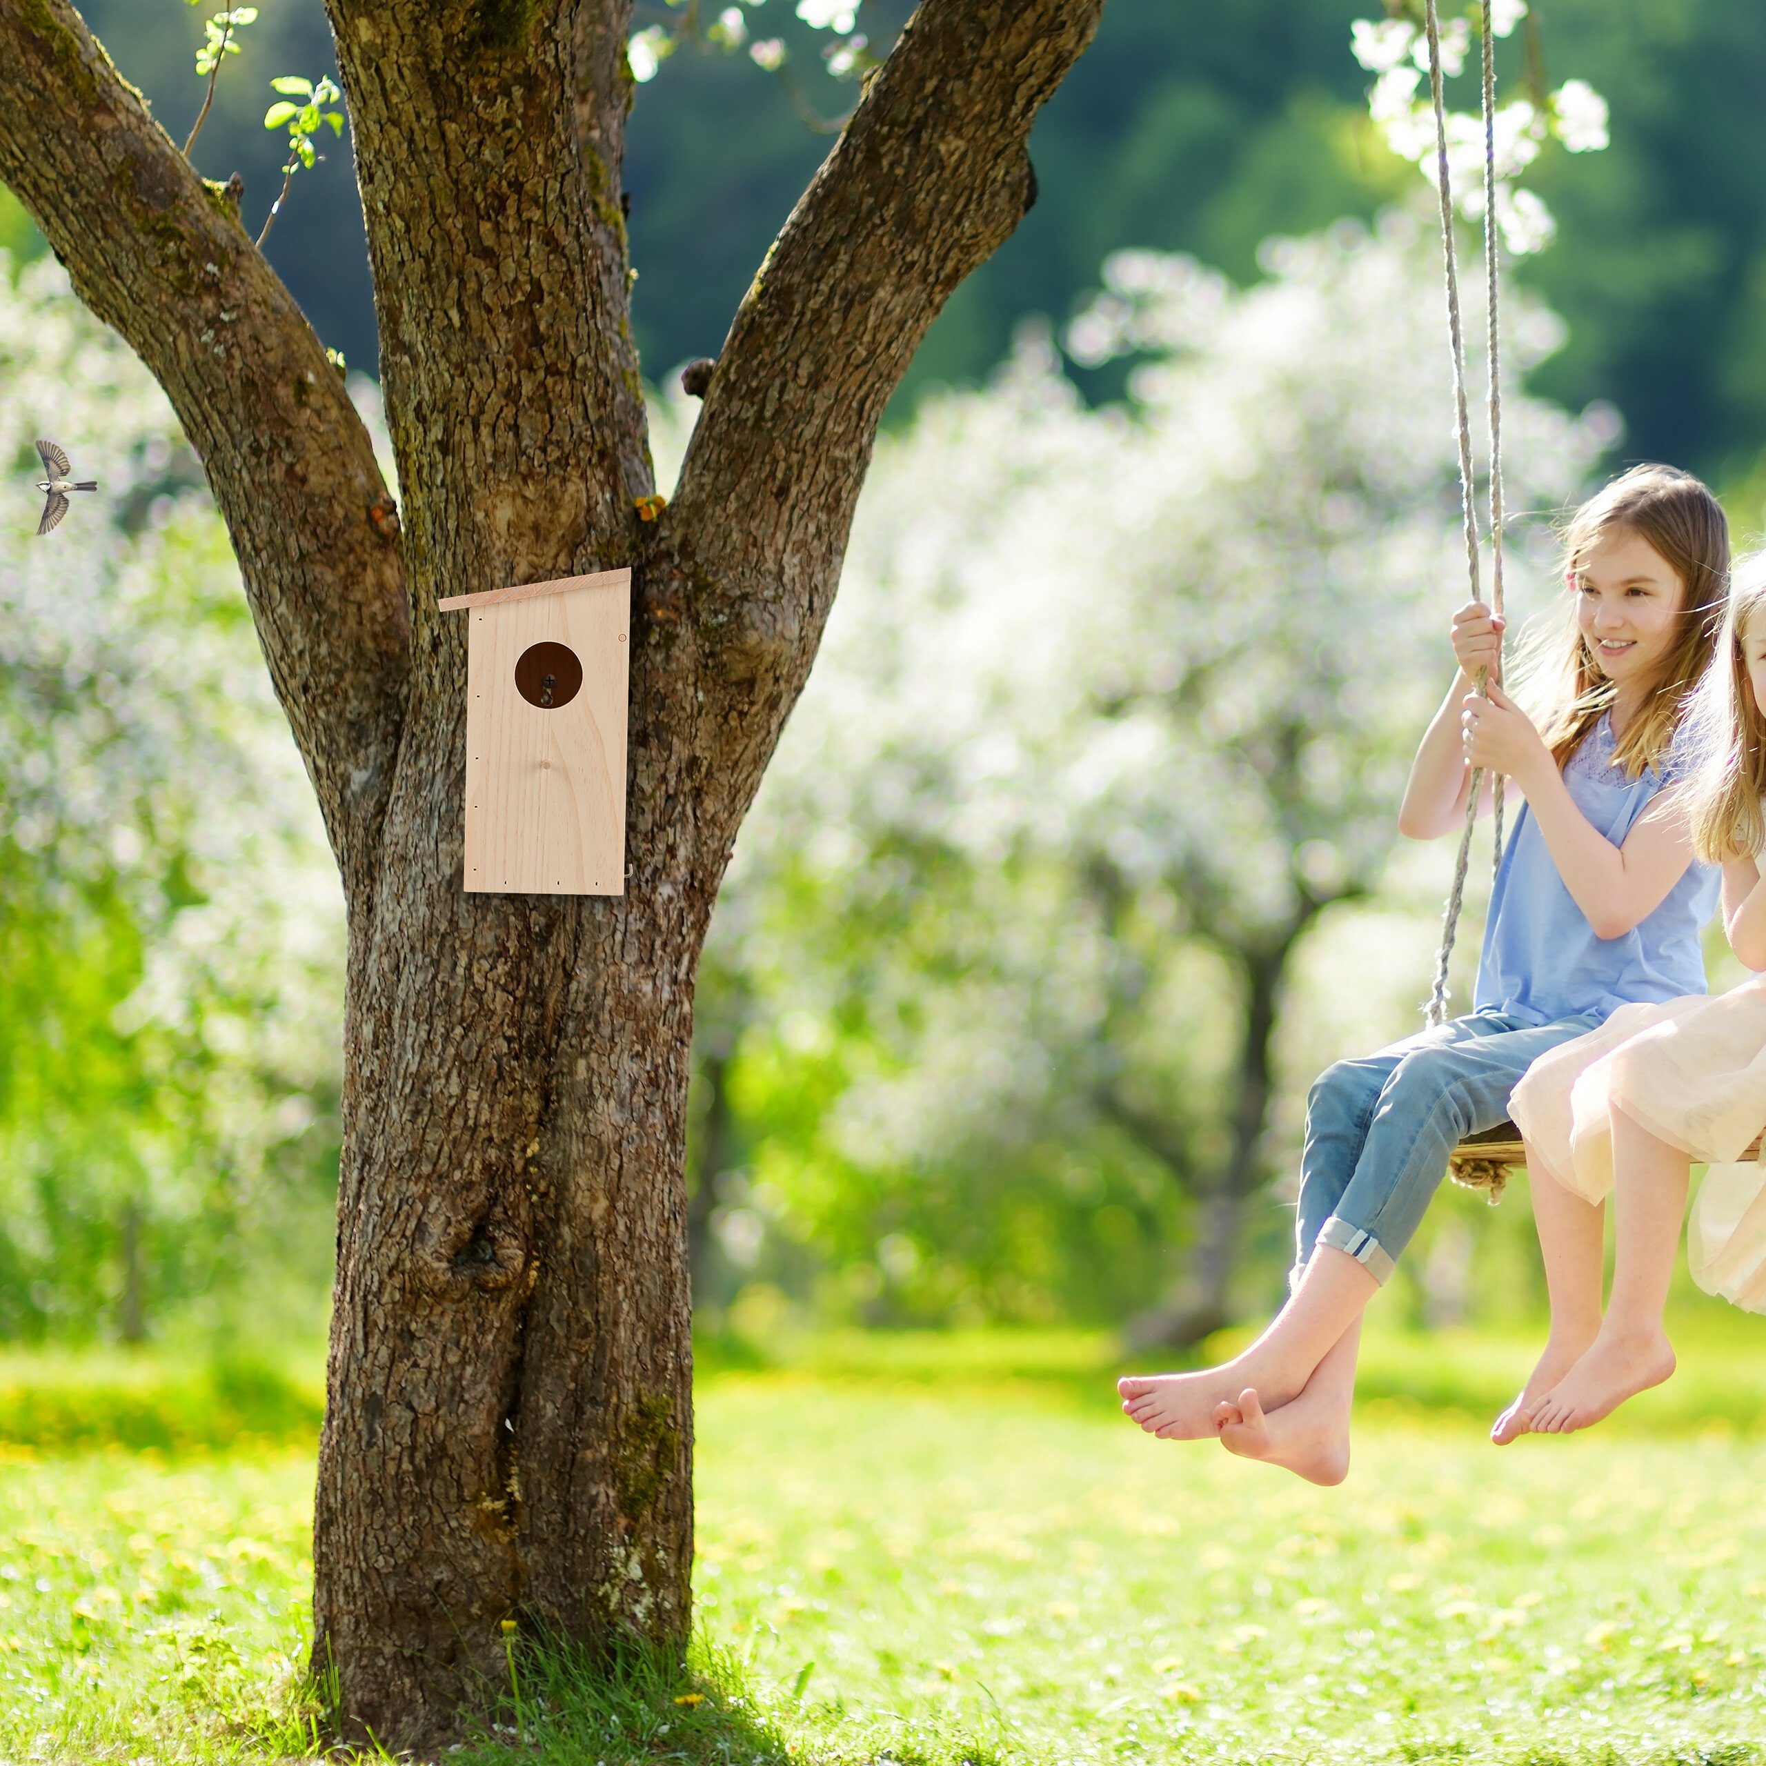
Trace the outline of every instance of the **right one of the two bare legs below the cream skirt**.
{"type": "Polygon", "coordinates": [[[1674,1275],[1679,1222],[1687,1213],[1692,1160],[1658,1141],[1621,1109],[1612,1111],[1612,1206],[1616,1250],[1612,1298],[1600,1335],[1545,1393],[1533,1418],[1540,1434],[1568,1434],[1609,1416],[1626,1399],[1674,1372],[1662,1330],[1674,1275]]]}

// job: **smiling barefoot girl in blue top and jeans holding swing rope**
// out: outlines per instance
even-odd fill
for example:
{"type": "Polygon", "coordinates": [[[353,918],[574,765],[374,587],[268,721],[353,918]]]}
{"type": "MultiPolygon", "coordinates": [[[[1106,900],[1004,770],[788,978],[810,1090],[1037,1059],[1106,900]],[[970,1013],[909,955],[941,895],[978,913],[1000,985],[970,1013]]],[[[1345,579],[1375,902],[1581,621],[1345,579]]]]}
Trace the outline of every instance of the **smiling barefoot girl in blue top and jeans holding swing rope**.
{"type": "Polygon", "coordinates": [[[1692,864],[1687,825],[1658,791],[1727,574],[1724,512],[1687,473],[1639,466],[1584,505],[1568,532],[1575,616],[1543,733],[1499,687],[1473,691],[1498,659],[1499,622],[1478,602],[1453,616],[1459,675],[1416,752],[1399,830],[1462,826],[1475,766],[1526,795],[1491,897],[1475,1012],[1317,1081],[1293,1294],[1231,1362],[1120,1381],[1123,1409],[1150,1434],[1219,1434],[1236,1453],[1340,1482],[1362,1310],[1453,1144],[1501,1121],[1549,1049],[1626,1001],[1704,985],[1699,927],[1717,878],[1692,864]]]}

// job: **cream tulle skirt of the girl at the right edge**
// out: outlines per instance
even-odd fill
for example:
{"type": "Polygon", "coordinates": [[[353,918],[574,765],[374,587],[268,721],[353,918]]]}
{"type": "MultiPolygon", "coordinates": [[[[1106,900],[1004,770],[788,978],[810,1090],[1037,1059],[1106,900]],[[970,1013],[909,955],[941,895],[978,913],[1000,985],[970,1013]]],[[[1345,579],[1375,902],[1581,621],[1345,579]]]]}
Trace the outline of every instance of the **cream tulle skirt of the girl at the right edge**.
{"type": "Polygon", "coordinates": [[[1766,1312],[1766,1167],[1741,1157],[1766,1127],[1766,977],[1619,1007],[1540,1056],[1508,1109],[1545,1174],[1598,1203],[1612,1189],[1614,1106],[1709,1167],[1687,1227],[1692,1279],[1766,1312]]]}

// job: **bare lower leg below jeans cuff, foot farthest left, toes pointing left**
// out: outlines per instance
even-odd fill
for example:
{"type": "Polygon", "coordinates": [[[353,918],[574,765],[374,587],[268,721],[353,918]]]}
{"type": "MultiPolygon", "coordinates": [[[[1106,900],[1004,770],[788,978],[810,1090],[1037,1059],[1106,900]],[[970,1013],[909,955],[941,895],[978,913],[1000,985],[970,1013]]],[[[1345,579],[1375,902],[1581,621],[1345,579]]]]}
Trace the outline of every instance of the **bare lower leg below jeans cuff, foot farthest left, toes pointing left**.
{"type": "Polygon", "coordinates": [[[1377,1293],[1379,1282],[1355,1257],[1333,1245],[1317,1245],[1287,1305],[1243,1355],[1196,1374],[1120,1379],[1121,1408],[1148,1434],[1199,1441],[1215,1432],[1215,1408],[1238,1402],[1247,1388],[1256,1388],[1270,1409],[1289,1404],[1377,1293]]]}

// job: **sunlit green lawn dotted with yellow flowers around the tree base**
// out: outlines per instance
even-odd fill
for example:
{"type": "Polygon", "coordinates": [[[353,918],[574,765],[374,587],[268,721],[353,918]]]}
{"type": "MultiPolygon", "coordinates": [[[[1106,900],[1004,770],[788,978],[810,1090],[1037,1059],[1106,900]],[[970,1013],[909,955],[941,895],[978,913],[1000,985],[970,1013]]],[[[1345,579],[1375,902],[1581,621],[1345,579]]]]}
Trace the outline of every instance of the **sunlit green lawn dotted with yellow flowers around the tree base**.
{"type": "MultiPolygon", "coordinates": [[[[743,1722],[662,1688],[562,1734],[535,1679],[530,1747],[461,1759],[1766,1759],[1766,1434],[1734,1344],[1623,1430],[1501,1453],[1482,1413],[1524,1346],[1376,1344],[1337,1491],[1148,1441],[1097,1340],[708,1372],[699,1614],[743,1722]],[[1425,1397],[1462,1402],[1392,1395],[1413,1363],[1460,1369],[1425,1397]]],[[[311,1478],[268,1439],[5,1450],[0,1757],[298,1750],[311,1478]]]]}

